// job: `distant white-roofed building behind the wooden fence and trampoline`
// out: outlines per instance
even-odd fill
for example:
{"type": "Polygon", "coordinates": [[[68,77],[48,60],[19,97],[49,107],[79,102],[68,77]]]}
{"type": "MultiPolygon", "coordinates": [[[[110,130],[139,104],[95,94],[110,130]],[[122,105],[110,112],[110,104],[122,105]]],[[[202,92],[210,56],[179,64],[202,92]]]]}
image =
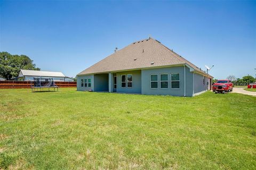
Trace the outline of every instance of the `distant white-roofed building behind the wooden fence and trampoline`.
{"type": "Polygon", "coordinates": [[[41,81],[49,81],[50,78],[52,78],[53,81],[74,81],[73,78],[66,77],[62,72],[38,70],[20,70],[19,77],[15,78],[15,80],[34,81],[35,79],[41,79],[41,81]]]}

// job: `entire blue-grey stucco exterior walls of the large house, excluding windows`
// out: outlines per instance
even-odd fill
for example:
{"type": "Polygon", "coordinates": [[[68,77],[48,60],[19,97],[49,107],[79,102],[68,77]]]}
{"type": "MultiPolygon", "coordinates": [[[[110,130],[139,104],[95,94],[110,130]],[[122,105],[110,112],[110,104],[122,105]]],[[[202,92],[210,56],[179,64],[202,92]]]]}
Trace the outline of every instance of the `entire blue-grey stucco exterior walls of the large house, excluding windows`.
{"type": "MultiPolygon", "coordinates": [[[[126,77],[127,79],[127,77],[126,77]]],[[[77,77],[77,90],[79,91],[109,91],[123,92],[123,93],[138,93],[143,95],[171,95],[171,96],[193,96],[194,94],[205,91],[207,81],[205,77],[205,83],[203,83],[204,76],[190,72],[187,66],[175,66],[175,67],[163,67],[157,69],[145,69],[136,71],[124,71],[116,73],[103,73],[103,74],[91,74],[91,75],[80,75],[77,77]],[[178,89],[171,88],[171,74],[179,73],[180,75],[180,87],[178,89]],[[132,88],[121,87],[121,76],[132,74],[132,88]],[[157,74],[157,88],[152,89],[150,87],[150,75],[157,74]],[[168,88],[161,89],[160,75],[168,74],[168,88]],[[109,75],[111,79],[109,79],[109,75]],[[116,90],[114,90],[114,76],[117,79],[116,90]],[[185,76],[186,76],[186,91],[185,91],[185,76]],[[91,79],[91,88],[81,87],[81,79],[91,79]],[[109,82],[111,84],[109,84],[109,82]]]]}

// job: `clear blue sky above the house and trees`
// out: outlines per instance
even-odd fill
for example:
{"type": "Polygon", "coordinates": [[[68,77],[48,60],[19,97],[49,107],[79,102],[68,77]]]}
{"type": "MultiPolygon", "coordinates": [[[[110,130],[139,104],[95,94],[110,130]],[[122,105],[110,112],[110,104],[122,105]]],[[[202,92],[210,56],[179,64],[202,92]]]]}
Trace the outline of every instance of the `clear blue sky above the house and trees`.
{"type": "Polygon", "coordinates": [[[217,79],[255,76],[256,1],[0,1],[0,51],[69,77],[153,38],[217,79]]]}

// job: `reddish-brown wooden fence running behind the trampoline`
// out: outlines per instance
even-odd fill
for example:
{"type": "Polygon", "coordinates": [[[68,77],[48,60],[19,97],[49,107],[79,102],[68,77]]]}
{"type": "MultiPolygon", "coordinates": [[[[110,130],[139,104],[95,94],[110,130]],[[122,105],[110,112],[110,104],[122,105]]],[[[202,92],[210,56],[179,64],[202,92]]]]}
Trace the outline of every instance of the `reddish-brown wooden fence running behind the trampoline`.
{"type": "MultiPolygon", "coordinates": [[[[31,88],[31,84],[34,85],[34,81],[0,81],[0,89],[31,88]]],[[[60,88],[76,87],[76,82],[55,81],[55,84],[60,88]]]]}

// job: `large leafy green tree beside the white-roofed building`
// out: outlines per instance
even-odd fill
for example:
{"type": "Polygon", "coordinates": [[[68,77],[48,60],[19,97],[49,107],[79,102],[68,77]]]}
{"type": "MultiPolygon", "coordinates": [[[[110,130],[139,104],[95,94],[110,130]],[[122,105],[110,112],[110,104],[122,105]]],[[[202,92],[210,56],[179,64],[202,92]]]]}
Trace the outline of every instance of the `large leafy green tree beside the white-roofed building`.
{"type": "Polygon", "coordinates": [[[26,55],[11,55],[7,52],[0,52],[0,76],[6,80],[18,77],[20,69],[40,70],[33,64],[26,55]]]}

